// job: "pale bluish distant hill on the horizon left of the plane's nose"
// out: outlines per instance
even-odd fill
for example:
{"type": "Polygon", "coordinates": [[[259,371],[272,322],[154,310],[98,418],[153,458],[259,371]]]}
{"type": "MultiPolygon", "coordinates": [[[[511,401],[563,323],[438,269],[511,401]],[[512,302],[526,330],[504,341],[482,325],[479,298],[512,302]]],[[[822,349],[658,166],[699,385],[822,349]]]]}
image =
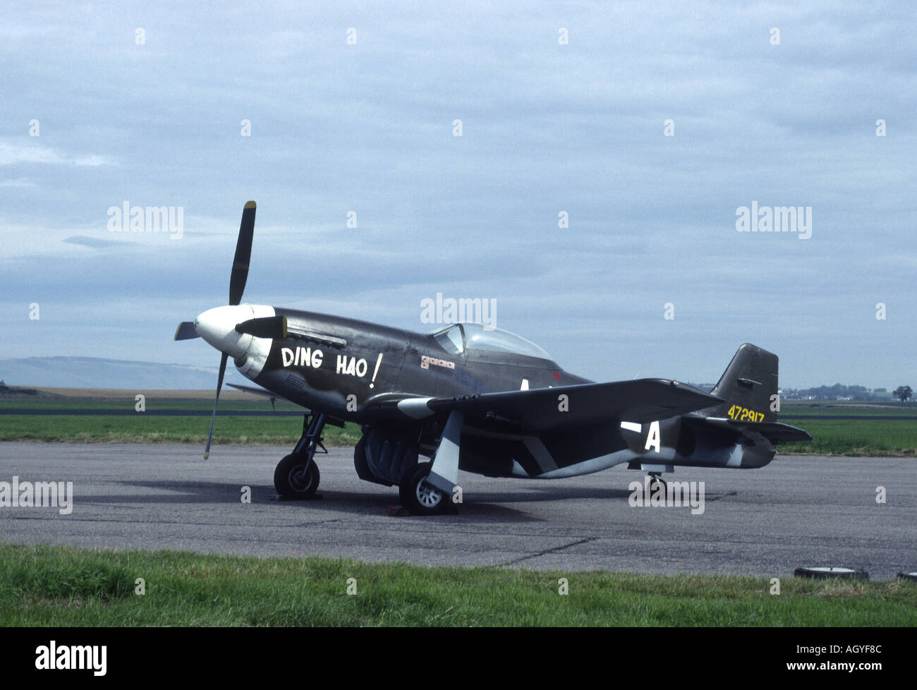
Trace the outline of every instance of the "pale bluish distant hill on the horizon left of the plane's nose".
{"type": "MultiPolygon", "coordinates": [[[[0,358],[0,380],[11,386],[129,389],[209,389],[216,386],[216,367],[129,362],[100,357],[0,358]]],[[[226,381],[246,381],[232,362],[226,381]]]]}

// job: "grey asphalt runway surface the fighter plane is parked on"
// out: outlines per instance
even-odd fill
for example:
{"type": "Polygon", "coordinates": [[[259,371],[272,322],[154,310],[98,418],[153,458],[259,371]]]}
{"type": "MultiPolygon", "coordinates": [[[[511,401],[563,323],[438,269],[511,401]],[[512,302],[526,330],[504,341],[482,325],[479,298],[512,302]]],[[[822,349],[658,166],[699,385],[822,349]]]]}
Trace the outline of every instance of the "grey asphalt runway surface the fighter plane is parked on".
{"type": "Polygon", "coordinates": [[[632,506],[628,484],[643,474],[624,466],[555,481],[459,473],[455,514],[398,517],[397,488],[360,481],[351,449],[318,457],[319,499],[278,500],[273,470],[287,452],[215,446],[204,461],[191,445],[0,443],[0,483],[73,483],[69,515],[0,507],[0,539],[564,573],[786,577],[834,565],[885,580],[917,571],[914,459],[778,456],[757,470],[677,468],[667,477],[703,482],[697,514],[632,506]]]}

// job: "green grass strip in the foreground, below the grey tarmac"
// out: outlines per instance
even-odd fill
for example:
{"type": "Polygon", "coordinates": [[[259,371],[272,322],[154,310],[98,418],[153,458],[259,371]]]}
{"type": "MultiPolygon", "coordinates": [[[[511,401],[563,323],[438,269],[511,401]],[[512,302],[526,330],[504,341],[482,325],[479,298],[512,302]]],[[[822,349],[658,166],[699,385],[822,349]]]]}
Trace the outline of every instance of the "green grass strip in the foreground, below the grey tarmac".
{"type": "Polygon", "coordinates": [[[0,545],[2,626],[908,626],[917,584],[0,545]],[[134,593],[142,577],[146,594],[134,593]],[[558,594],[558,578],[569,595],[558,594]],[[348,595],[348,578],[357,594],[348,595]]]}

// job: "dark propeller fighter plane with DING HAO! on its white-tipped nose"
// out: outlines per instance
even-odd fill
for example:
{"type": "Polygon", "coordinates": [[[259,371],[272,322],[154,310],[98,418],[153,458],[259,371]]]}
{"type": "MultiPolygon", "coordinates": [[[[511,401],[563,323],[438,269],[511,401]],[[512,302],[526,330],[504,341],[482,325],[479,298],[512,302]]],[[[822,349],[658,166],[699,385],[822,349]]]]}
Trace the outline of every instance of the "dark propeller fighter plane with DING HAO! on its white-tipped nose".
{"type": "Polygon", "coordinates": [[[230,357],[255,390],[305,408],[302,437],[274,471],[284,497],[315,495],[322,431],[346,421],[362,429],[360,479],[397,485],[419,515],[454,508],[459,469],[558,479],[626,462],[656,482],[676,465],[762,467],[776,444],[812,438],[777,421],[778,358],[747,343],[708,394],[668,379],[592,383],[535,343],[481,324],[415,333],[241,304],[255,209],[249,201],[242,211],[229,304],[182,322],[175,339],[200,337],[222,352],[204,459],[230,357]]]}

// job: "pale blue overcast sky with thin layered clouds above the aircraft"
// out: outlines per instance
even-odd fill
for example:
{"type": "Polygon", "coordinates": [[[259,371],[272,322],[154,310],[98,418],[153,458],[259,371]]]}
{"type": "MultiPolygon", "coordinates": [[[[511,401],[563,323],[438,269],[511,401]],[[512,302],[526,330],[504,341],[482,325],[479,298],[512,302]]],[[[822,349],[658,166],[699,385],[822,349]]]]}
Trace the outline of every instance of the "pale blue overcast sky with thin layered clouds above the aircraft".
{"type": "Polygon", "coordinates": [[[254,199],[251,304],[481,298],[600,381],[753,342],[783,387],[917,384],[914,6],[494,5],[5,9],[0,357],[215,366],[171,338],[254,199]],[[126,202],[181,237],[110,230],[126,202]],[[811,236],[737,231],[753,202],[811,236]]]}

